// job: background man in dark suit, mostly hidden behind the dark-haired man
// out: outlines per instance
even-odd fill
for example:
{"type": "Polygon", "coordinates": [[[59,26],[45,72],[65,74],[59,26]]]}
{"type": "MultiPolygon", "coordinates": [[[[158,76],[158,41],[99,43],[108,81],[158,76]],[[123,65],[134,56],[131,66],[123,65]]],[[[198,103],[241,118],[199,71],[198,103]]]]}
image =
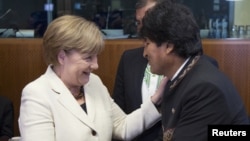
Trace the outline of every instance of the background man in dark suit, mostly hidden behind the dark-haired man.
{"type": "MultiPolygon", "coordinates": [[[[137,31],[142,27],[142,18],[145,12],[160,1],[174,2],[174,0],[137,1],[137,31]]],[[[215,59],[208,56],[206,58],[218,67],[215,59]]],[[[162,76],[150,72],[150,65],[148,65],[147,59],[143,57],[143,47],[126,50],[122,54],[118,65],[112,97],[125,113],[131,113],[154,93],[161,78],[162,76]]],[[[153,141],[158,136],[161,136],[161,129],[161,122],[158,122],[155,126],[135,138],[134,141],[153,141]]]]}

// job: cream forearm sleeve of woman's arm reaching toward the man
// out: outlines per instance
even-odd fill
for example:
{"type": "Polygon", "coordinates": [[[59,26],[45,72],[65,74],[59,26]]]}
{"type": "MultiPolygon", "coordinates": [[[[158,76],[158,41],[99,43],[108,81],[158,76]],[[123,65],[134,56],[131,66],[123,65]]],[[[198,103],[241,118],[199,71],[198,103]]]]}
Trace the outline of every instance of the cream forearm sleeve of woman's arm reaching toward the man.
{"type": "Polygon", "coordinates": [[[113,137],[123,140],[131,140],[156,124],[161,114],[148,99],[141,107],[132,113],[125,115],[117,104],[113,102],[114,133],[113,137]]]}

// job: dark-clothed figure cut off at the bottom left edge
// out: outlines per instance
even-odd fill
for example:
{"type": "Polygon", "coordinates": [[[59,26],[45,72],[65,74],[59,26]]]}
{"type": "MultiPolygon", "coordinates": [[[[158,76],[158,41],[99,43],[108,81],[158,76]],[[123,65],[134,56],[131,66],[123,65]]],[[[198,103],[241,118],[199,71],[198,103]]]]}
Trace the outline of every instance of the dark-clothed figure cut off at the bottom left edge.
{"type": "Polygon", "coordinates": [[[0,96],[0,141],[14,136],[14,108],[8,98],[0,96]]]}

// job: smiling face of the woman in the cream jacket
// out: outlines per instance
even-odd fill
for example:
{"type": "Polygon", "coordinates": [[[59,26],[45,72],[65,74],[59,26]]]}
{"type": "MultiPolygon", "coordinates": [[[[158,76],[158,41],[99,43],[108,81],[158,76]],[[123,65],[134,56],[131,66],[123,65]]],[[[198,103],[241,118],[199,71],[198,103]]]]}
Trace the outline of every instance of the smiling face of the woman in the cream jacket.
{"type": "Polygon", "coordinates": [[[61,51],[58,55],[60,78],[68,87],[82,86],[89,81],[90,73],[98,69],[97,54],[61,51]]]}

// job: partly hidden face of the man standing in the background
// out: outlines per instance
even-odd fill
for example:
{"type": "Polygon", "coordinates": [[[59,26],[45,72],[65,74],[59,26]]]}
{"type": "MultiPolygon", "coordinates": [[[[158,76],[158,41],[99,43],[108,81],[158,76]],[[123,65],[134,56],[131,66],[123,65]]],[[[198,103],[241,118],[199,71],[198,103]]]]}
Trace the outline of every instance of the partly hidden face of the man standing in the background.
{"type": "Polygon", "coordinates": [[[140,9],[136,9],[136,14],[135,14],[135,18],[136,18],[136,24],[137,24],[137,32],[139,32],[139,30],[142,27],[142,19],[145,16],[146,11],[153,7],[156,4],[156,2],[148,2],[146,6],[140,8],[140,9]]]}

